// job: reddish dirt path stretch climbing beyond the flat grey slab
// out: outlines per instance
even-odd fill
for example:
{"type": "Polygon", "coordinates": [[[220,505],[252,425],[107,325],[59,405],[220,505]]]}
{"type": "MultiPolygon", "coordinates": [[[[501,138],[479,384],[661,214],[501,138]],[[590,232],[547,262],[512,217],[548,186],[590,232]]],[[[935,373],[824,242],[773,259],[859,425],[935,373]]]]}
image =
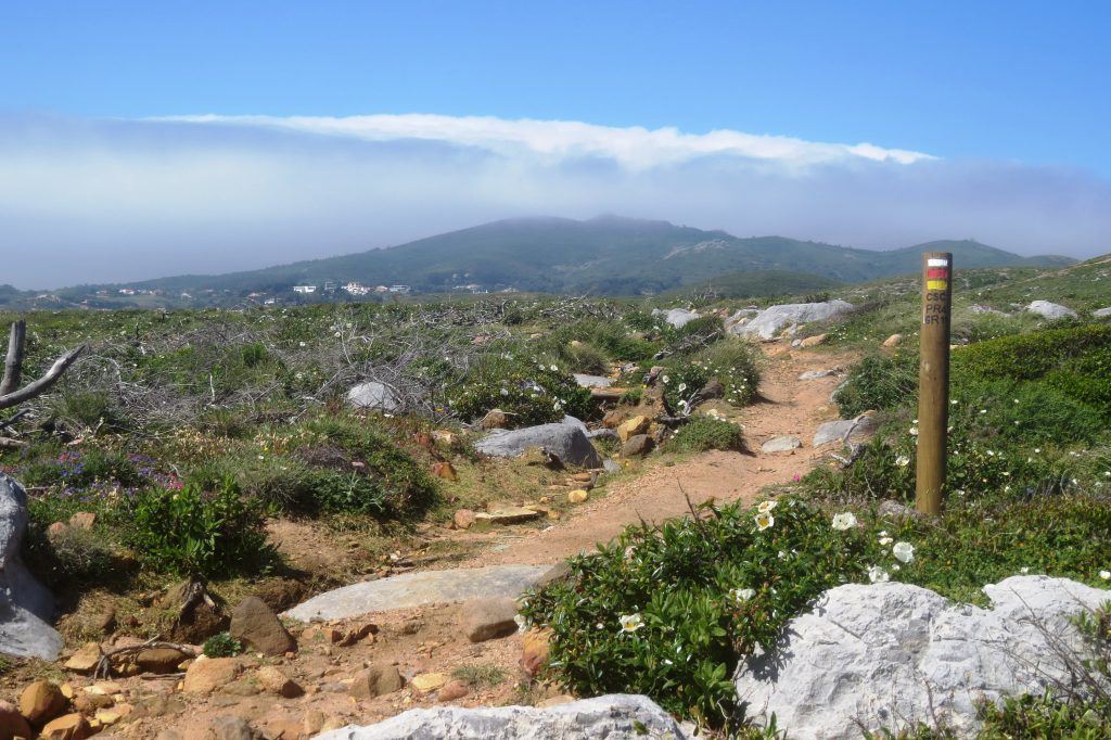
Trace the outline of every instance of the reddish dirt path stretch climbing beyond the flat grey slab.
{"type": "Polygon", "coordinates": [[[829,398],[842,378],[831,376],[799,380],[808,370],[849,367],[853,357],[807,350],[769,348],[768,364],[760,382],[762,400],[744,409],[739,420],[744,424],[749,453],[705,452],[674,466],[657,466],[631,480],[623,480],[601,498],[573,509],[572,514],[551,529],[522,537],[511,533],[498,538],[492,547],[463,567],[503,563],[556,563],[581,551],[593,550],[627,524],[644,519],[660,522],[688,512],[687,499],[701,503],[709,499],[752,501],[770,483],[789,482],[804,474],[820,457],[813,448],[814,431],[838,418],[829,398]],[[802,440],[793,452],[763,453],[760,446],[782,434],[802,440]]]}

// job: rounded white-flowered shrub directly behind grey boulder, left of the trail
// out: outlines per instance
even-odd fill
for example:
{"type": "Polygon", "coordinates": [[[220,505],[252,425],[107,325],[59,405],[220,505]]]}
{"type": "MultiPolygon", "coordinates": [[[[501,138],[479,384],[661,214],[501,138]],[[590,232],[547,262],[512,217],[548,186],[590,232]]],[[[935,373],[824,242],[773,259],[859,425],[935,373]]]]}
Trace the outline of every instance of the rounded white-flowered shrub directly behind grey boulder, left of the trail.
{"type": "Polygon", "coordinates": [[[557,364],[512,354],[491,354],[449,389],[451,410],[468,421],[501,409],[512,427],[560,421],[565,414],[585,418],[593,410],[590,391],[557,364]]]}

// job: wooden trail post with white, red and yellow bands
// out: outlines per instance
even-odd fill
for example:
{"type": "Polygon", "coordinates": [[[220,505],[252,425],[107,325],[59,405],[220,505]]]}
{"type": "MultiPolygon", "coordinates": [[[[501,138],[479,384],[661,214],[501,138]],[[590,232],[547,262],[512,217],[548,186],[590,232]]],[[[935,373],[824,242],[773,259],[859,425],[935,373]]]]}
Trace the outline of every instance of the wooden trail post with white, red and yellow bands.
{"type": "Polygon", "coordinates": [[[922,254],[921,360],[918,373],[918,466],[914,503],[941,513],[945,486],[949,427],[949,320],[953,296],[953,256],[922,254]]]}

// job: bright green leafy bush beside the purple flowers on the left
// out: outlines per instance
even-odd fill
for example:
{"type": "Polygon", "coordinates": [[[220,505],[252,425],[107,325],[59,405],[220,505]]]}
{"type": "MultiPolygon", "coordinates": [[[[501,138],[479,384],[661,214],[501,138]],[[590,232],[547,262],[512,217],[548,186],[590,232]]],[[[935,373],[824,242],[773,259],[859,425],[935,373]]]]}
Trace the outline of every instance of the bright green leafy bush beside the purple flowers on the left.
{"type": "Polygon", "coordinates": [[[129,544],[151,568],[179,576],[250,572],[272,558],[262,508],[231,479],[212,493],[196,486],[140,491],[129,544]]]}

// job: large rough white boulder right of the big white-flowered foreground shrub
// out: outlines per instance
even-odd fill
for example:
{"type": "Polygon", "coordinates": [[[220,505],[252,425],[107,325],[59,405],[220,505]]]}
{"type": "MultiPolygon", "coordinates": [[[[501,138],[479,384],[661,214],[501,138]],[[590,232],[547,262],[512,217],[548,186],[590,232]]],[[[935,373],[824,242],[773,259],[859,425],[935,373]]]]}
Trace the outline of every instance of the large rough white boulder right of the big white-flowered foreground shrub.
{"type": "Polygon", "coordinates": [[[991,609],[905,583],[831,589],[773,650],[741,662],[738,699],[758,722],[774,713],[797,740],[859,738],[862,728],[898,733],[919,722],[972,737],[978,699],[1069,686],[1061,656],[1084,650],[1070,620],[1111,599],[1044,576],[983,591],[991,609]]]}

